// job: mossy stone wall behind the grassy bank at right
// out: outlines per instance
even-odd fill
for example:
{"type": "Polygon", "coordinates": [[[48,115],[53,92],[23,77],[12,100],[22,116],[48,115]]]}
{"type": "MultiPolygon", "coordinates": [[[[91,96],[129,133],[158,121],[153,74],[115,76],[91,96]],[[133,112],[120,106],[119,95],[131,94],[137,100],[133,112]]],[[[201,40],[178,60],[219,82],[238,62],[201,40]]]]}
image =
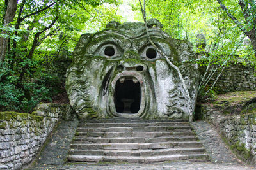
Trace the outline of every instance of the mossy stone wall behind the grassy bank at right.
{"type": "MultiPolygon", "coordinates": [[[[203,67],[200,68],[200,73],[204,74],[203,67]]],[[[209,84],[214,83],[220,71],[216,71],[209,84]]],[[[225,67],[223,73],[218,78],[214,85],[216,92],[235,92],[235,91],[253,91],[256,90],[256,71],[253,66],[243,66],[242,64],[231,63],[225,67]]]]}

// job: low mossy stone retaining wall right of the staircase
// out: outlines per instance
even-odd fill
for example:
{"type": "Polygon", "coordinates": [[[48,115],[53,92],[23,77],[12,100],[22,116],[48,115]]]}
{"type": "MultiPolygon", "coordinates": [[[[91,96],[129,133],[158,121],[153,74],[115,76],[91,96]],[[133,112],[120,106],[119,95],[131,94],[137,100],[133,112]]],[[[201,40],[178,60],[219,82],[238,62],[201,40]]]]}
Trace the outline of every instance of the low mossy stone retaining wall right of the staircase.
{"type": "Polygon", "coordinates": [[[219,129],[236,155],[248,163],[256,164],[256,113],[221,115],[210,106],[202,106],[204,119],[219,129]]]}

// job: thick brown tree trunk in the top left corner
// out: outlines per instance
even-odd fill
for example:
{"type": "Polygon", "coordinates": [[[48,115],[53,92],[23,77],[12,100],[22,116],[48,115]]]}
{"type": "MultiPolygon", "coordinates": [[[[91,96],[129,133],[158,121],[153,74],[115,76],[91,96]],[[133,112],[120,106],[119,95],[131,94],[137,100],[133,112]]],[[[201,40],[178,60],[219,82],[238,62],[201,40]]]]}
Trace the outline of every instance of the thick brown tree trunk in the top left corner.
{"type": "MultiPolygon", "coordinates": [[[[17,0],[9,0],[6,13],[4,14],[4,26],[8,26],[10,22],[13,21],[15,17],[15,13],[17,10],[17,0]]],[[[2,34],[8,34],[8,31],[2,31],[2,34]]],[[[1,37],[0,38],[0,62],[4,62],[4,57],[6,55],[6,50],[8,47],[8,38],[1,37]]]]}

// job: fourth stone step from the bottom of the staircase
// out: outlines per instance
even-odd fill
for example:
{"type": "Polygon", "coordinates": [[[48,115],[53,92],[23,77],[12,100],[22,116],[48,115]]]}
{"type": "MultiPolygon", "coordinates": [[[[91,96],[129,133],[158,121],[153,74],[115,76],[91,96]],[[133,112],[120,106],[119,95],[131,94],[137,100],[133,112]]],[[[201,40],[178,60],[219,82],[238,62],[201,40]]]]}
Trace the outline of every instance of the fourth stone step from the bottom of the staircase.
{"type": "Polygon", "coordinates": [[[195,136],[164,136],[158,138],[140,138],[140,137],[116,137],[116,138],[81,138],[77,137],[73,143],[157,143],[167,141],[198,141],[195,136]]]}

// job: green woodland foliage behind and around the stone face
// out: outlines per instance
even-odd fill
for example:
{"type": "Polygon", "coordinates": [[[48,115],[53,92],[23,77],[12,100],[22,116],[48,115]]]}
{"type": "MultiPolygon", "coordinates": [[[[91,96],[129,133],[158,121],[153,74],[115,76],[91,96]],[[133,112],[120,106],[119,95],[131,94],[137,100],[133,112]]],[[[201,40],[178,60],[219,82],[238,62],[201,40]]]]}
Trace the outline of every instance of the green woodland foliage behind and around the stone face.
{"type": "MultiPolygon", "coordinates": [[[[0,0],[1,18],[4,18],[4,3],[0,0]]],[[[138,1],[128,3],[136,20],[142,21],[138,1]]],[[[256,67],[250,39],[243,37],[241,29],[217,1],[150,0],[146,3],[147,19],[160,20],[164,31],[173,38],[188,39],[195,44],[196,34],[205,35],[207,46],[201,51],[204,55],[195,62],[226,66],[227,61],[232,61],[256,67]]],[[[237,2],[223,3],[244,29],[249,31],[255,26],[256,4],[250,5],[250,16],[244,20],[237,2]]],[[[51,101],[51,96],[63,86],[63,80],[54,74],[52,62],[65,52],[70,57],[84,32],[99,31],[111,20],[120,22],[122,17],[116,14],[120,4],[122,1],[118,0],[19,1],[13,22],[8,27],[3,25],[3,20],[0,24],[0,38],[10,39],[0,72],[0,110],[29,111],[39,101],[51,101]]],[[[210,89],[204,86],[203,95],[210,89]]],[[[215,96],[214,90],[209,93],[208,96],[215,96]]]]}

